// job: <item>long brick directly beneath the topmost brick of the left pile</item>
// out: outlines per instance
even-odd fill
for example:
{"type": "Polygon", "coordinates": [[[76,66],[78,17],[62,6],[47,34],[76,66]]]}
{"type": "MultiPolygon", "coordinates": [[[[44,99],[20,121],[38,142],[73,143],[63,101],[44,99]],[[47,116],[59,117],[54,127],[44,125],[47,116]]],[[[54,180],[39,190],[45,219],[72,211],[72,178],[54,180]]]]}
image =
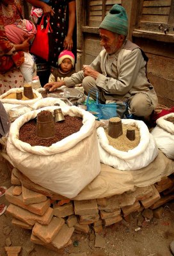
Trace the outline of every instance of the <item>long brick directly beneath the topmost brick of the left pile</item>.
{"type": "Polygon", "coordinates": [[[39,204],[29,204],[29,205],[25,205],[22,199],[22,195],[19,196],[13,196],[12,195],[12,191],[13,191],[13,186],[10,187],[7,191],[6,191],[6,200],[8,200],[8,202],[18,205],[30,212],[33,212],[35,214],[38,214],[40,216],[42,216],[48,209],[50,206],[50,199],[47,199],[47,201],[39,203],[39,204]]]}

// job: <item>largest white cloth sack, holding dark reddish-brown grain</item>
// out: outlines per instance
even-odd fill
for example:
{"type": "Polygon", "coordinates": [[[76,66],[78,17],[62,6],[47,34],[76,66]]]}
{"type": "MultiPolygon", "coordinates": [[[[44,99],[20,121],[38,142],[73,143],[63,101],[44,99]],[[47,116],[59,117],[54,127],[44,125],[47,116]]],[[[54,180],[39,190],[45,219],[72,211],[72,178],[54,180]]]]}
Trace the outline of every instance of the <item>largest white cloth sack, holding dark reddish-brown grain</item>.
{"type": "MultiPolygon", "coordinates": [[[[78,132],[50,147],[35,146],[19,140],[20,127],[50,106],[30,111],[13,122],[7,142],[7,154],[15,168],[31,181],[59,195],[73,198],[100,173],[100,157],[95,116],[75,106],[61,108],[63,115],[79,116],[83,125],[78,132]]],[[[72,124],[73,125],[73,124],[72,124]]]]}

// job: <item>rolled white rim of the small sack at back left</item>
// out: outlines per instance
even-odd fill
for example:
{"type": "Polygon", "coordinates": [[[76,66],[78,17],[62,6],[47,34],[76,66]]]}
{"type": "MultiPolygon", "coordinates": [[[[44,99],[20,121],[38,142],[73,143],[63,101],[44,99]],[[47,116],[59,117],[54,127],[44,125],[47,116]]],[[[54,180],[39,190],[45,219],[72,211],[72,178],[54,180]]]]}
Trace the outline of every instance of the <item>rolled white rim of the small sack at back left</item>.
{"type": "Polygon", "coordinates": [[[4,97],[7,97],[11,93],[16,93],[16,91],[19,89],[22,92],[24,92],[24,88],[12,88],[12,89],[8,90],[7,92],[3,93],[2,95],[0,95],[1,102],[2,103],[10,103],[10,104],[31,105],[31,104],[34,104],[36,101],[42,99],[42,95],[39,92],[37,92],[35,89],[33,89],[33,93],[35,93],[37,96],[35,99],[31,99],[31,100],[30,99],[29,100],[4,99],[4,97]]]}

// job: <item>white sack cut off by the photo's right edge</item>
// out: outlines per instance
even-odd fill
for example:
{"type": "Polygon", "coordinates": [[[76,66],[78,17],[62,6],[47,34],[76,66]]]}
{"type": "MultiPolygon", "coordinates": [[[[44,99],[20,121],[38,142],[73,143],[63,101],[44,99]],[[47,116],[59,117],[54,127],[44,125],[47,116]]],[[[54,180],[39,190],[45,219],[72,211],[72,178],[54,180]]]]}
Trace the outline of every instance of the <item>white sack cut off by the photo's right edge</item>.
{"type": "Polygon", "coordinates": [[[152,130],[157,147],[170,159],[174,159],[174,113],[161,116],[152,130]]]}

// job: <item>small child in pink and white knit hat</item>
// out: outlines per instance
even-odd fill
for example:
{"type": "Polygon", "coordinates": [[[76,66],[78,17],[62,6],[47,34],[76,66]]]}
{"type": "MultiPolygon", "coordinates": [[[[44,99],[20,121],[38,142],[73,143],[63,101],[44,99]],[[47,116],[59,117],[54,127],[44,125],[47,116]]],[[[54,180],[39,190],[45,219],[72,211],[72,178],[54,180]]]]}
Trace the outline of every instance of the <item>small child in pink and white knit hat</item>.
{"type": "Polygon", "coordinates": [[[49,76],[50,82],[63,81],[65,77],[70,77],[75,73],[74,70],[75,57],[71,51],[62,51],[58,57],[58,68],[52,68],[49,76]]]}

